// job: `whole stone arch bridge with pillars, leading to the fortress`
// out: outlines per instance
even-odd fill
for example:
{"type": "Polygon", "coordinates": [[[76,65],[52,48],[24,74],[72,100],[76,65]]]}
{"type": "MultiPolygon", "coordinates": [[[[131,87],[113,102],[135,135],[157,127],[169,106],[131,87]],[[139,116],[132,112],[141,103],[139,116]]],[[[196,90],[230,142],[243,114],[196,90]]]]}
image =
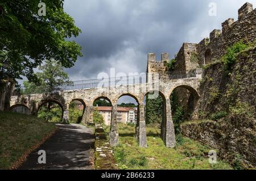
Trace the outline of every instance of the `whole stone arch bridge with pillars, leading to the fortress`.
{"type": "Polygon", "coordinates": [[[69,104],[73,100],[79,100],[84,104],[84,112],[82,121],[85,123],[92,123],[93,121],[93,102],[94,100],[105,98],[112,104],[112,119],[110,126],[110,145],[116,146],[118,144],[118,123],[117,123],[117,102],[123,95],[129,95],[137,100],[138,103],[138,118],[136,126],[136,136],[138,138],[139,146],[146,147],[146,121],[144,116],[144,96],[148,92],[154,92],[152,99],[162,96],[164,100],[163,123],[162,123],[162,139],[166,146],[174,148],[175,133],[174,124],[171,115],[170,96],[177,87],[184,87],[191,91],[192,95],[199,99],[197,90],[199,89],[201,73],[195,73],[195,76],[177,77],[155,79],[155,81],[146,81],[145,83],[137,83],[134,85],[114,85],[108,87],[97,87],[92,89],[78,89],[67,91],[56,91],[52,93],[30,94],[30,95],[16,95],[11,96],[10,108],[17,106],[24,106],[30,110],[32,115],[36,115],[40,106],[46,102],[54,102],[59,104],[63,110],[63,121],[68,120],[69,104]]]}

